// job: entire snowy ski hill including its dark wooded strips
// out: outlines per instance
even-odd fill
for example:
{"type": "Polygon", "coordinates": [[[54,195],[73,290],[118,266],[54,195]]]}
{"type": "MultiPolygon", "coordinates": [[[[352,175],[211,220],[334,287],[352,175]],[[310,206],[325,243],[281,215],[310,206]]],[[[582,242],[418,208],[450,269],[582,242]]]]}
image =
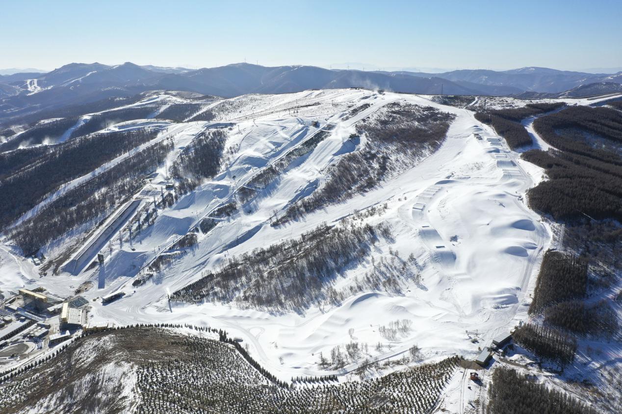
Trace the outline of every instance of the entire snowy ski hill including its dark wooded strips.
{"type": "Polygon", "coordinates": [[[0,290],[80,295],[91,324],[225,329],[281,381],[474,359],[530,319],[559,242],[527,204],[544,169],[471,110],[525,102],[482,101],[157,91],[40,120],[0,146],[24,200],[4,201],[0,290]]]}

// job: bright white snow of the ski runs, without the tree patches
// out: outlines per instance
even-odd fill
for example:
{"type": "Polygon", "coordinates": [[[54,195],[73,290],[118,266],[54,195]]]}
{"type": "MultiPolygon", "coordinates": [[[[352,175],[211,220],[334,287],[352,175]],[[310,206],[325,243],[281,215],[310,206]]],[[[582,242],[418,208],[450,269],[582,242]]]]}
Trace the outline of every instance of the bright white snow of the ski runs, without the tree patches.
{"type": "MultiPolygon", "coordinates": [[[[105,283],[99,283],[105,284],[103,289],[84,293],[93,307],[92,321],[161,321],[224,328],[231,336],[243,338],[251,355],[283,379],[327,374],[315,364],[319,352],[328,356],[333,347],[350,341],[368,343],[368,355],[364,356],[378,359],[401,356],[413,344],[419,345],[427,360],[455,353],[474,356],[478,347],[490,344],[496,334],[526,318],[530,285],[550,242],[549,230],[524,198],[526,190],[541,179],[542,170],[519,160],[490,127],[476,121],[473,112],[437,104],[425,96],[367,90],[241,96],[210,104],[210,108],[217,114],[214,121],[172,124],[164,134],[174,137],[178,154],[179,147],[200,131],[230,126],[223,170],[181,196],[172,208],[159,211],[156,223],[131,246],[115,243],[111,254],[106,248],[101,272],[47,276],[36,284],[58,295],[70,295],[70,286],[104,278],[105,283]],[[361,149],[366,137],[360,142],[350,139],[356,122],[390,103],[432,106],[455,114],[440,149],[371,191],[283,226],[270,226],[271,216],[282,214],[327,180],[330,165],[361,149]],[[363,104],[369,106],[355,116],[346,116],[363,104]],[[218,108],[225,106],[228,110],[218,113],[218,108]],[[290,165],[251,202],[239,200],[241,186],[328,124],[335,125],[332,134],[310,154],[290,165]],[[199,234],[195,249],[146,285],[132,287],[133,277],[157,254],[216,208],[232,201],[238,201],[238,213],[221,219],[207,234],[199,234]],[[297,313],[239,309],[234,303],[170,306],[167,301],[169,293],[228,257],[299,237],[322,223],[339,225],[356,211],[385,204],[381,214],[360,223],[389,224],[391,241],[381,239],[363,264],[337,277],[335,287],[356,283],[381,259],[390,260],[391,249],[402,259],[414,255],[415,270],[420,274],[416,281],[401,279],[401,293],[364,291],[337,306],[314,306],[297,313]],[[91,301],[117,290],[126,296],[108,305],[91,301]],[[395,320],[411,320],[412,329],[396,338],[381,336],[379,327],[395,320]],[[348,334],[350,328],[354,329],[352,335],[348,334]],[[474,336],[479,343],[471,342],[474,336]],[[374,349],[379,342],[382,349],[374,349]]],[[[164,177],[160,170],[147,189],[159,191],[164,177]]],[[[3,258],[11,260],[9,255],[3,258]]],[[[358,362],[345,370],[354,369],[358,362]]]]}

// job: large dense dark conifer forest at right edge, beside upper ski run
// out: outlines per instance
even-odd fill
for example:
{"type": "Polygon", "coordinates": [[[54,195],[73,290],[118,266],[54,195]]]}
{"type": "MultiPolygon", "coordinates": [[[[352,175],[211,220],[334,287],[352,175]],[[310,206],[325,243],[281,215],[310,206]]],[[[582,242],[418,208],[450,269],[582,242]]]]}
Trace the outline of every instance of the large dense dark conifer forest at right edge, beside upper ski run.
{"type": "Polygon", "coordinates": [[[536,119],[534,128],[555,149],[522,154],[549,177],[529,190],[531,207],[556,220],[622,219],[622,113],[572,107],[536,119]]]}

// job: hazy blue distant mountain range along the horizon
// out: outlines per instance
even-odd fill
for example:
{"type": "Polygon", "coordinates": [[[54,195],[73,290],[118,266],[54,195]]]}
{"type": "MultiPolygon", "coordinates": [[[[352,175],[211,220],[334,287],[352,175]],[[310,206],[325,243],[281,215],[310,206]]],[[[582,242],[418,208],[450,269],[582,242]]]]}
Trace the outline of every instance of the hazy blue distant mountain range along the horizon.
{"type": "MultiPolygon", "coordinates": [[[[526,67],[516,70],[414,71],[330,70],[312,66],[263,67],[235,63],[190,70],[139,66],[70,63],[48,73],[0,75],[0,119],[150,90],[192,91],[230,98],[248,93],[290,93],[308,89],[378,88],[405,93],[556,96],[580,86],[617,88],[615,74],[526,67]]],[[[527,97],[527,96],[525,96],[527,97]]]]}

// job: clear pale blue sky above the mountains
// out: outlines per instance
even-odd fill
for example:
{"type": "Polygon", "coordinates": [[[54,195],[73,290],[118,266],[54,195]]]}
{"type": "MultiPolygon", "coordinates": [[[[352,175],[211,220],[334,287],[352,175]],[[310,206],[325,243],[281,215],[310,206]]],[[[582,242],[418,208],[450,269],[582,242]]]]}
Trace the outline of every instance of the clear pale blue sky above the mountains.
{"type": "Polygon", "coordinates": [[[622,67],[621,0],[0,0],[0,68],[622,67]]]}

